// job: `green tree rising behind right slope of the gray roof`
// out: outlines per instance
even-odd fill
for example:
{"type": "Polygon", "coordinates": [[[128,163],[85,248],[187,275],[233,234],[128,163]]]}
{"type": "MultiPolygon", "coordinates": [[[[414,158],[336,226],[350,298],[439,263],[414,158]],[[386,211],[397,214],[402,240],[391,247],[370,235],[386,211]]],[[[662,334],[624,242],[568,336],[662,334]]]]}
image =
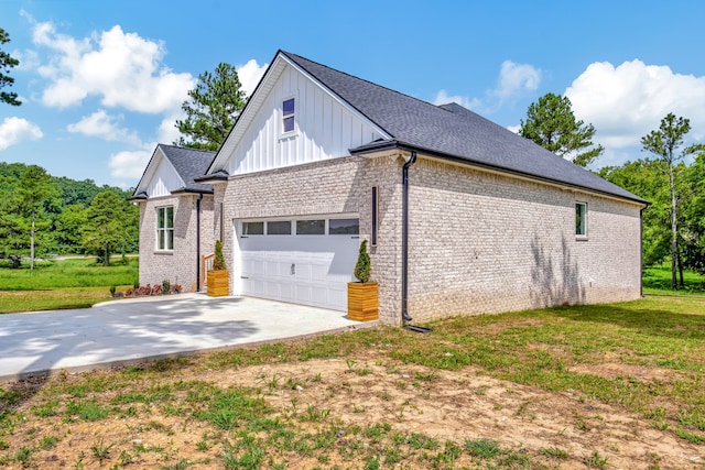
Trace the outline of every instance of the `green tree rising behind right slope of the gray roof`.
{"type": "Polygon", "coordinates": [[[529,106],[519,135],[581,166],[593,163],[605,150],[601,145],[588,150],[593,146],[595,128],[576,121],[571,100],[554,94],[546,94],[529,106]]]}

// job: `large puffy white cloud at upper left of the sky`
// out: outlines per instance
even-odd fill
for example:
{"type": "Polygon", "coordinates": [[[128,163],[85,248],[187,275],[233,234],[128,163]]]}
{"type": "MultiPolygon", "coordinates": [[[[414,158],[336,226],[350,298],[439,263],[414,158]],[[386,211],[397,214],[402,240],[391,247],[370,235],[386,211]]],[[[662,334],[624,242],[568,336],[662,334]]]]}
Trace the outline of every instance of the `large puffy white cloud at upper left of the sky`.
{"type": "Polygon", "coordinates": [[[119,25],[76,40],[57,33],[52,23],[37,23],[33,41],[57,53],[37,68],[50,81],[42,95],[46,106],[65,108],[98,96],[106,107],[160,113],[181,106],[195,85],[191,74],[162,64],[162,42],[124,33],[119,25]]]}

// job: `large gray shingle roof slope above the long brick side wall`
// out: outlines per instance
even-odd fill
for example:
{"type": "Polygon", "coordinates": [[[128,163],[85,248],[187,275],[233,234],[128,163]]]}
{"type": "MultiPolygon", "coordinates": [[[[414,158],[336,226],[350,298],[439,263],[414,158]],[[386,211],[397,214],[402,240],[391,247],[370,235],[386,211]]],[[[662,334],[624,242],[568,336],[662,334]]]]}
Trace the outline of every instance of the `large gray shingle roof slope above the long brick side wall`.
{"type": "MultiPolygon", "coordinates": [[[[281,54],[382,128],[400,146],[646,203],[457,103],[434,106],[299,55],[283,51],[281,54]]],[[[371,143],[351,152],[380,144],[384,143],[371,143]]]]}

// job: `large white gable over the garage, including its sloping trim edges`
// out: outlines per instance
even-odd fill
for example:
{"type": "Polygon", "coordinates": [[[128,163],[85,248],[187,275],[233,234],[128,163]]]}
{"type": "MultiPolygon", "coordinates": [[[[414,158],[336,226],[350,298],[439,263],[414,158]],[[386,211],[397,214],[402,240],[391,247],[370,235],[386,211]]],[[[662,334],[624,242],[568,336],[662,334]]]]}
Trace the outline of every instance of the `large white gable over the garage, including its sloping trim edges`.
{"type": "Polygon", "coordinates": [[[230,175],[349,155],[386,132],[279,52],[218,151],[208,173],[230,175]],[[282,103],[295,102],[295,129],[283,132],[282,103]]]}

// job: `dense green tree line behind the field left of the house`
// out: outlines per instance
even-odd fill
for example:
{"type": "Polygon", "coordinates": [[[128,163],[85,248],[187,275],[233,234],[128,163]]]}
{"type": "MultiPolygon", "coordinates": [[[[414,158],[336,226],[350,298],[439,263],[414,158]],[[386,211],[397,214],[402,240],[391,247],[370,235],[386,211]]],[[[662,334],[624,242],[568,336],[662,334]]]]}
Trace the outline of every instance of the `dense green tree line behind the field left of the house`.
{"type": "Polygon", "coordinates": [[[37,165],[0,162],[0,258],[91,254],[102,263],[139,245],[132,190],[55,177],[37,165]]]}

